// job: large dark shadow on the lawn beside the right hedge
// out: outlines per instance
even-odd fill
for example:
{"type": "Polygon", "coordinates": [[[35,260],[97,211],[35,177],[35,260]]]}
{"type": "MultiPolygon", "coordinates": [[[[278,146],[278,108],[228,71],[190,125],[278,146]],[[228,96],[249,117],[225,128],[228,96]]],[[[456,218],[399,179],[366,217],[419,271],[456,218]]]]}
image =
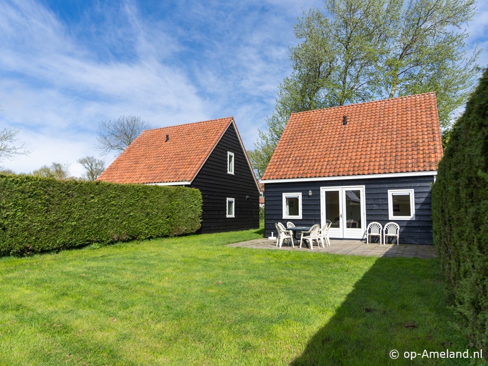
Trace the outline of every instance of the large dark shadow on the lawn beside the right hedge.
{"type": "Polygon", "coordinates": [[[378,258],[290,364],[470,364],[404,357],[407,351],[466,351],[468,341],[455,330],[444,299],[436,259],[378,258]],[[399,352],[398,359],[390,358],[391,350],[399,352]]]}

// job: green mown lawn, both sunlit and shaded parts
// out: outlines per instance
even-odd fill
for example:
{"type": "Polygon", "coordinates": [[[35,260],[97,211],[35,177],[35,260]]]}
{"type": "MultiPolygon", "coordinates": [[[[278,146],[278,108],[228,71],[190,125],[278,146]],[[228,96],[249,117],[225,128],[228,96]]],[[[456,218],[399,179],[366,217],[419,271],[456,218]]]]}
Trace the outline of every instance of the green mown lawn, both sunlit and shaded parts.
{"type": "Polygon", "coordinates": [[[403,356],[468,348],[437,260],[226,246],[261,235],[2,258],[0,365],[470,364],[403,356]]]}

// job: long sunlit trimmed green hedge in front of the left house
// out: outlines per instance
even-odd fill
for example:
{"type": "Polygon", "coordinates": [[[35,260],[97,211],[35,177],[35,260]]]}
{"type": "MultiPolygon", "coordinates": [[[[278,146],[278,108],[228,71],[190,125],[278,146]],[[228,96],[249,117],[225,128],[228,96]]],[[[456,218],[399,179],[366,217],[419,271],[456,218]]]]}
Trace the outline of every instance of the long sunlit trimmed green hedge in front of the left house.
{"type": "Polygon", "coordinates": [[[0,175],[0,255],[193,233],[200,191],[0,175]]]}

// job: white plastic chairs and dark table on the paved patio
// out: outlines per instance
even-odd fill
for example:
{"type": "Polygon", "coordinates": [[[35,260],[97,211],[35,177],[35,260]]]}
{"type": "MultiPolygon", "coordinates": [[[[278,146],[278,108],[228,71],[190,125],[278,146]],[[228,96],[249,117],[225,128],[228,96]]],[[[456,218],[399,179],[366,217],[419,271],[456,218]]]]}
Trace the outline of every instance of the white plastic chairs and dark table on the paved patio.
{"type": "MultiPolygon", "coordinates": [[[[317,242],[317,246],[322,248],[330,246],[330,239],[327,235],[332,222],[327,220],[325,225],[320,227],[319,224],[315,224],[312,227],[309,226],[295,226],[292,222],[287,222],[286,227],[281,222],[275,223],[276,230],[278,232],[276,246],[281,248],[285,240],[289,240],[291,246],[295,248],[295,244],[298,245],[297,233],[300,233],[300,248],[303,241],[306,245],[310,246],[310,249],[314,249],[314,241],[317,242]]],[[[388,238],[396,238],[396,245],[398,245],[400,227],[394,222],[387,223],[384,227],[378,222],[372,222],[366,229],[366,243],[369,244],[372,236],[379,237],[379,243],[382,244],[381,238],[383,237],[383,244],[388,243],[388,238]]]]}

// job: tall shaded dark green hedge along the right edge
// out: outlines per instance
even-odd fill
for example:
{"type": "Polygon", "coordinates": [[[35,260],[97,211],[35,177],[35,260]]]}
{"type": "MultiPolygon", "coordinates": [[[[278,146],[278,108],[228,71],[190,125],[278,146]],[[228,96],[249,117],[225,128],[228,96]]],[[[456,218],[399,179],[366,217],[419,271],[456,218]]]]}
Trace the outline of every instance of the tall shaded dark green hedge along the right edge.
{"type": "Polygon", "coordinates": [[[434,245],[463,328],[488,349],[488,70],[456,121],[432,190],[434,245]]]}

